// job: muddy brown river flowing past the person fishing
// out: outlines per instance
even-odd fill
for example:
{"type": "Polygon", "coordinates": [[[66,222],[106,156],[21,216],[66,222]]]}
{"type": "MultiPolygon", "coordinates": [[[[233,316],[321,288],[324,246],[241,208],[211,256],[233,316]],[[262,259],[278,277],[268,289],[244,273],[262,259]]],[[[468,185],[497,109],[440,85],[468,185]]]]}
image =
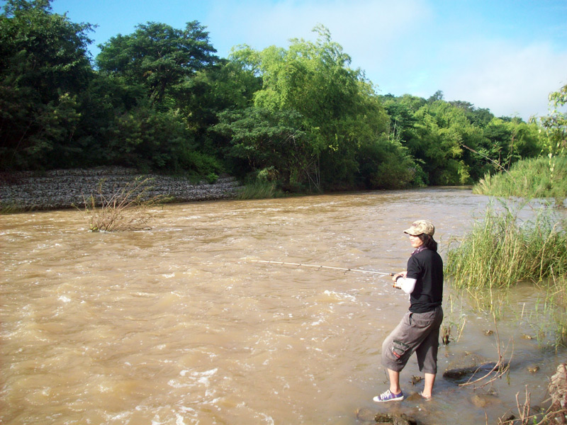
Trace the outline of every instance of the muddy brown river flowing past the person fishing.
{"type": "MultiPolygon", "coordinates": [[[[120,233],[88,232],[75,210],[0,216],[0,423],[352,425],[369,408],[495,424],[525,385],[532,404],[544,400],[565,358],[520,337],[537,334],[531,286],[500,312],[509,378],[476,391],[442,378],[457,353],[497,355],[492,317],[446,285],[459,339],[439,349],[434,399],[378,406],[381,343],[407,295],[369,273],[254,263],[401,271],[413,220],[434,222],[444,256],[487,203],[462,188],[188,203],[120,233]],[[485,407],[471,402],[488,392],[485,407]]],[[[422,389],[413,375],[415,358],[407,393],[422,389]]]]}

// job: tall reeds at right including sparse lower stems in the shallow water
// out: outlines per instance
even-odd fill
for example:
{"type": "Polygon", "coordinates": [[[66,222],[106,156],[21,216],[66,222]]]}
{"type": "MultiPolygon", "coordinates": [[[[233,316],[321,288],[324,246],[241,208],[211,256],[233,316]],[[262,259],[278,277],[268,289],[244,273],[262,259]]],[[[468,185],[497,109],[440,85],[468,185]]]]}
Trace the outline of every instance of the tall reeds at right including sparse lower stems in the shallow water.
{"type": "Polygon", "coordinates": [[[531,281],[537,307],[529,322],[539,329],[538,339],[551,334],[556,348],[566,346],[567,217],[540,208],[531,220],[521,220],[521,206],[490,205],[471,232],[449,243],[446,273],[451,285],[495,316],[517,283],[531,281]]]}

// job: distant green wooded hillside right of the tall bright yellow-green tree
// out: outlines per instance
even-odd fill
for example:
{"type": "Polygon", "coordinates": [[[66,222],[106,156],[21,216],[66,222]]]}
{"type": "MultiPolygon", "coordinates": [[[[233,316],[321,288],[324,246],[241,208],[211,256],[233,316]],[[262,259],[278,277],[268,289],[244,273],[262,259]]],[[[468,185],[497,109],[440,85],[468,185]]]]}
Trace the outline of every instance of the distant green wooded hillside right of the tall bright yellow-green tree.
{"type": "Polygon", "coordinates": [[[433,185],[470,184],[522,158],[537,157],[539,128],[520,118],[494,118],[464,101],[446,102],[438,92],[382,97],[391,122],[388,135],[408,148],[433,185]]]}

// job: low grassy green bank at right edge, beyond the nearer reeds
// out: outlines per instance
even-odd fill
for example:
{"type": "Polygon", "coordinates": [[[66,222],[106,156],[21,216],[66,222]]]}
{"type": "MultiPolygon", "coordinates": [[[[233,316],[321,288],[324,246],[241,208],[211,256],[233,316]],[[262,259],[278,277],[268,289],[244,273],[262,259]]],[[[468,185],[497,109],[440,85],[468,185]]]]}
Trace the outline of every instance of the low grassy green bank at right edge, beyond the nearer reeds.
{"type": "Polygon", "coordinates": [[[473,187],[473,193],[554,198],[562,203],[567,198],[567,157],[524,159],[507,173],[486,175],[473,187]]]}

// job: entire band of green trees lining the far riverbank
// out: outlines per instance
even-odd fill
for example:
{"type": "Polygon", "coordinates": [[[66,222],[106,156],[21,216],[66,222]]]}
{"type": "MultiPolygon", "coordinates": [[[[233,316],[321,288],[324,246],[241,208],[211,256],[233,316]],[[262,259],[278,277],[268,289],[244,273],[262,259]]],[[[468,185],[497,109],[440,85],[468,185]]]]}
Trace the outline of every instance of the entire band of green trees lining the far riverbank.
{"type": "MultiPolygon", "coordinates": [[[[470,184],[520,159],[565,152],[564,114],[495,117],[467,101],[378,95],[332,40],[219,58],[206,27],[147,22],[100,45],[50,0],[0,14],[0,164],[107,164],[242,179],[288,191],[470,184]]],[[[566,103],[566,87],[551,94],[566,103]]]]}

